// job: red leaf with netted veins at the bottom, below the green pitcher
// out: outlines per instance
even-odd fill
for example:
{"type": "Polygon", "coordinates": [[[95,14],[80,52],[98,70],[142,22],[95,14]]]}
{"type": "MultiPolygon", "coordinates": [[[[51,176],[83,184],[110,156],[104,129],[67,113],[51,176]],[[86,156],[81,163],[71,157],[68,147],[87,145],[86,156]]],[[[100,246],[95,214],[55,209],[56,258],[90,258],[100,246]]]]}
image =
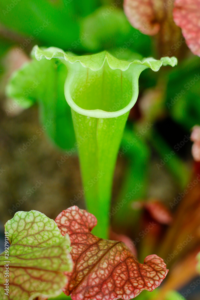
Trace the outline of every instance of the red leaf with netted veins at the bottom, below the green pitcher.
{"type": "Polygon", "coordinates": [[[66,273],[69,282],[63,291],[73,300],[128,300],[144,289],[153,291],[168,273],[157,255],[141,264],[121,241],[93,235],[97,219],[77,206],[62,211],[55,222],[62,235],[70,235],[74,268],[66,273]]]}

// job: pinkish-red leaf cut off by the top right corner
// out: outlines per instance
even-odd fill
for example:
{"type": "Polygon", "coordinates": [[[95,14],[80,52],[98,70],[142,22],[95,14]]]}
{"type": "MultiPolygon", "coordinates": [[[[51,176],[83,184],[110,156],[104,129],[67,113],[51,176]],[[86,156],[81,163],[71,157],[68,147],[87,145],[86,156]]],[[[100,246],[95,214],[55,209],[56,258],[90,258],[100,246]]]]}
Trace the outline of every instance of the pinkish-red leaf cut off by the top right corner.
{"type": "Polygon", "coordinates": [[[190,50],[200,56],[199,0],[175,0],[173,16],[190,50]]]}

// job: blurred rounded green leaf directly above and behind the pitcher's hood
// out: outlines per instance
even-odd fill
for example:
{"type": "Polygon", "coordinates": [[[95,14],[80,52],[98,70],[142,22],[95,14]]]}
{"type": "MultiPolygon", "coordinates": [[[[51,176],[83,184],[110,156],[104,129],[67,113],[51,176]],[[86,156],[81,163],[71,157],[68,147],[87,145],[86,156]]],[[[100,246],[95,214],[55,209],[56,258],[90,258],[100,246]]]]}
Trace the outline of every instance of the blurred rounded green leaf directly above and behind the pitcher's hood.
{"type": "Polygon", "coordinates": [[[112,5],[95,10],[83,19],[81,31],[88,34],[82,44],[91,52],[105,49],[110,52],[113,48],[119,47],[115,51],[119,55],[127,49],[139,52],[143,56],[151,55],[150,38],[131,27],[124,12],[118,6],[113,10],[112,5]]]}

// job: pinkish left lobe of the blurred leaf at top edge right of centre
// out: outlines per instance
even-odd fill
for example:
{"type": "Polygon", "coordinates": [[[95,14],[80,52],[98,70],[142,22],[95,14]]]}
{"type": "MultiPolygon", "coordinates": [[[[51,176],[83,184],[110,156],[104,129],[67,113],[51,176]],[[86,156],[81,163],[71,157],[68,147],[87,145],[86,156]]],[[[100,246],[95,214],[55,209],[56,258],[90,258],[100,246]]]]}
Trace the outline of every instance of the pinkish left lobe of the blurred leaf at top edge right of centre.
{"type": "Polygon", "coordinates": [[[129,22],[146,35],[159,32],[158,16],[162,10],[162,0],[124,0],[124,12],[129,22]]]}

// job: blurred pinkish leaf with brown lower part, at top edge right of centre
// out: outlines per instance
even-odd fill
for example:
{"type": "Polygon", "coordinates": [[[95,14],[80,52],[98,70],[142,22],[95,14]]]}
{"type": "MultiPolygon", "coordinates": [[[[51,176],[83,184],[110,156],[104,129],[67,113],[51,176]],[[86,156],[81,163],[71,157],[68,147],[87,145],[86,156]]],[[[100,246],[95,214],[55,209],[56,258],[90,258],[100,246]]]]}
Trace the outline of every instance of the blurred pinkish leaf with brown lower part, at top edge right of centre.
{"type": "Polygon", "coordinates": [[[157,35],[157,52],[159,56],[182,57],[184,39],[181,29],[173,20],[173,1],[163,0],[124,0],[124,12],[131,25],[146,35],[157,35]],[[180,45],[181,41],[181,45],[180,45]],[[178,47],[173,47],[178,43],[178,47]]]}

